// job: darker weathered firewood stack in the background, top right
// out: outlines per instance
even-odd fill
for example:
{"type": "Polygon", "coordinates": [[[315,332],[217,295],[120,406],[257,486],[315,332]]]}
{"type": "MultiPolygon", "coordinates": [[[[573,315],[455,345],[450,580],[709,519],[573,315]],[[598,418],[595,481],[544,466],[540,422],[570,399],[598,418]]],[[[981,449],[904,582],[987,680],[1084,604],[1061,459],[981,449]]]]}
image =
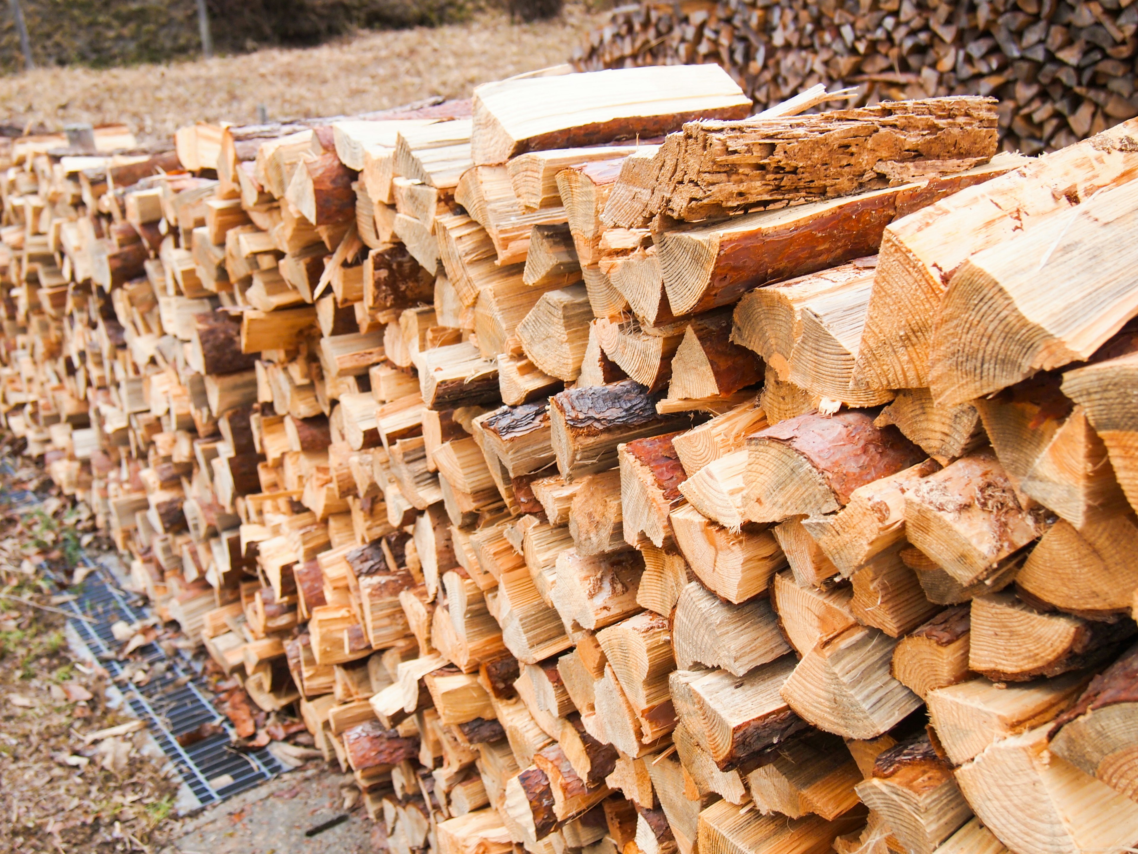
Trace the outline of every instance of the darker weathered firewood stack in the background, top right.
{"type": "Polygon", "coordinates": [[[992,0],[686,0],[621,6],[583,71],[718,63],[757,104],[816,83],[869,101],[999,98],[1006,150],[1056,150],[1138,115],[1138,7],[992,0]]]}

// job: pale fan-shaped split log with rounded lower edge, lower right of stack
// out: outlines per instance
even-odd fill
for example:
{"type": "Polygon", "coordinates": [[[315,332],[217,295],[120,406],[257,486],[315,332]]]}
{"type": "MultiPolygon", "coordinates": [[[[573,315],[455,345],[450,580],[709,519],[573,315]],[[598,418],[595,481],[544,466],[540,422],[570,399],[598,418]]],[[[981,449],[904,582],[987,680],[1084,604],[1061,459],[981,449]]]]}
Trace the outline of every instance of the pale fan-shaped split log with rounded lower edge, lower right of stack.
{"type": "Polygon", "coordinates": [[[890,674],[896,646],[863,626],[823,639],[803,656],[782,695],[818,729],[876,738],[921,706],[921,698],[890,674]]]}

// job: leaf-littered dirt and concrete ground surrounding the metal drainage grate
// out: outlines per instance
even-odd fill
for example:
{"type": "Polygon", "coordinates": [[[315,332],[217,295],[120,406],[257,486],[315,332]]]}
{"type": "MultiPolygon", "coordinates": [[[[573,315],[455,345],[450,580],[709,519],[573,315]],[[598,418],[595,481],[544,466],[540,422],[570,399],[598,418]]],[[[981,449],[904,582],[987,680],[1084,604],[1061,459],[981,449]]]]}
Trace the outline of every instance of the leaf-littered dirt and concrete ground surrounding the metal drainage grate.
{"type": "MultiPolygon", "coordinates": [[[[196,814],[178,815],[180,777],[141,722],[115,707],[122,695],[107,670],[77,659],[66,640],[60,606],[74,598],[72,582],[85,572],[77,568],[79,550],[97,558],[107,543],[84,504],[61,499],[41,467],[10,451],[0,443],[0,461],[16,470],[0,471],[0,854],[374,849],[374,824],[352,775],[313,758],[316,752],[304,747],[311,737],[298,723],[236,714],[234,705],[240,711],[248,701],[234,704],[231,688],[217,695],[218,709],[239,731],[248,717],[250,738],[267,740],[274,724],[283,726],[292,755],[300,757],[290,764],[298,767],[196,814]],[[35,500],[15,503],[14,495],[26,496],[25,491],[35,500]]],[[[138,631],[139,641],[179,638],[173,624],[138,631]]],[[[140,646],[134,641],[125,641],[121,662],[140,646]]],[[[141,670],[124,673],[138,681],[141,670]]],[[[228,688],[223,675],[211,674],[208,666],[206,673],[207,684],[228,688]]]]}

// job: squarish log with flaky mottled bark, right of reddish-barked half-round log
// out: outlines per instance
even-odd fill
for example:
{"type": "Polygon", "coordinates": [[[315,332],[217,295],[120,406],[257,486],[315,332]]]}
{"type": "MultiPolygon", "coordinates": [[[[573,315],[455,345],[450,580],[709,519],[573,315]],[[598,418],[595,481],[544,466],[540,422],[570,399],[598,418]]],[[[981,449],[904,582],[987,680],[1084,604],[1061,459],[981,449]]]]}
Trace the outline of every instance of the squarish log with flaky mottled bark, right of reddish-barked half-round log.
{"type": "Polygon", "coordinates": [[[909,542],[962,585],[995,574],[1000,560],[1042,533],[1041,508],[1016,494],[991,451],[964,457],[905,494],[909,542]],[[951,495],[945,501],[943,495],[951,495]]]}

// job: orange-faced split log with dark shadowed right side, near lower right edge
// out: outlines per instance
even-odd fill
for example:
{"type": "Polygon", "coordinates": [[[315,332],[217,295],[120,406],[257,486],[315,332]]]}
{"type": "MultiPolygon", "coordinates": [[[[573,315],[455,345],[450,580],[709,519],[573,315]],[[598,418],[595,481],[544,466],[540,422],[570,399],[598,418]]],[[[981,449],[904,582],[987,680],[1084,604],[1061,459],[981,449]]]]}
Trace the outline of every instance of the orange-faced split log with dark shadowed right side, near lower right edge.
{"type": "Polygon", "coordinates": [[[1042,613],[1014,593],[972,600],[968,667],[997,682],[1026,682],[1092,667],[1138,632],[1129,616],[1091,622],[1042,613]]]}

